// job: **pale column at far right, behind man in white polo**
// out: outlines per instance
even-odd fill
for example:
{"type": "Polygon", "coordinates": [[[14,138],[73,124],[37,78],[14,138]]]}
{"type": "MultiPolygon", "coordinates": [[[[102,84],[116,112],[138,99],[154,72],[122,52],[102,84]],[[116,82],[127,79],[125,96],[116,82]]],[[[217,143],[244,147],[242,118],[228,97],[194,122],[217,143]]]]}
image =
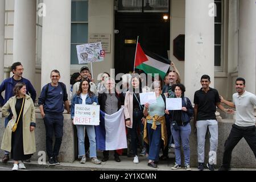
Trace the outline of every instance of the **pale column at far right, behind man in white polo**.
{"type": "Polygon", "coordinates": [[[246,90],[256,93],[256,4],[239,1],[238,77],[245,78],[246,90]]]}

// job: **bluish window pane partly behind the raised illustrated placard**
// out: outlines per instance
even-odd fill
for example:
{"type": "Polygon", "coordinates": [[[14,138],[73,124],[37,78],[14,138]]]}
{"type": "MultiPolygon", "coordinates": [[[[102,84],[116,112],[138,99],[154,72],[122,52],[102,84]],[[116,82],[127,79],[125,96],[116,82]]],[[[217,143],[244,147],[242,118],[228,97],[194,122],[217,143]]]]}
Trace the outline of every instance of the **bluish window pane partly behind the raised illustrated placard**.
{"type": "Polygon", "coordinates": [[[88,1],[71,1],[71,64],[79,64],[76,46],[88,43],[88,1]]]}

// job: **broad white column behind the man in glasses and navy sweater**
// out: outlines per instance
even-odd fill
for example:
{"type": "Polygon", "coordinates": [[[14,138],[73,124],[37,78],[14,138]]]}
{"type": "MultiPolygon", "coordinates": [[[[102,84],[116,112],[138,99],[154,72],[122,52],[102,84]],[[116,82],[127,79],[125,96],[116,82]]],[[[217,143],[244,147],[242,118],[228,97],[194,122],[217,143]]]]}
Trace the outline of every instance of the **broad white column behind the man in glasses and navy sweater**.
{"type": "Polygon", "coordinates": [[[60,81],[69,90],[71,54],[71,1],[44,0],[41,87],[50,80],[53,69],[60,72],[60,81]]]}

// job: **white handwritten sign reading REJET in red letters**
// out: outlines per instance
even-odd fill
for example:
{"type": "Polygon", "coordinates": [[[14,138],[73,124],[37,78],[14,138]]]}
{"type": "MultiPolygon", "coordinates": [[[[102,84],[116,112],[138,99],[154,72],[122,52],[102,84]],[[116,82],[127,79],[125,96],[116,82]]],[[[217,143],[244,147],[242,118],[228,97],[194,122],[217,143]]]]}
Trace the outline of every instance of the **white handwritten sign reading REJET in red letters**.
{"type": "Polygon", "coordinates": [[[100,125],[100,105],[75,104],[75,125],[100,125]]]}

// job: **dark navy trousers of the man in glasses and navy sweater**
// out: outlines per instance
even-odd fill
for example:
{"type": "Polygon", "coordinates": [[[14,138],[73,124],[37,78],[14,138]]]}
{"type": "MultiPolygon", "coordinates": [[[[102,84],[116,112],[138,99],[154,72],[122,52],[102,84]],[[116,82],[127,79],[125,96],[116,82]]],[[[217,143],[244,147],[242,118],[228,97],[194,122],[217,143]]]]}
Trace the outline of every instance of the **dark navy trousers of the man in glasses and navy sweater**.
{"type": "Polygon", "coordinates": [[[60,146],[63,137],[63,114],[49,114],[44,116],[44,125],[46,126],[46,151],[48,158],[59,155],[60,146]],[[53,132],[55,134],[55,143],[53,144],[53,132]]]}

